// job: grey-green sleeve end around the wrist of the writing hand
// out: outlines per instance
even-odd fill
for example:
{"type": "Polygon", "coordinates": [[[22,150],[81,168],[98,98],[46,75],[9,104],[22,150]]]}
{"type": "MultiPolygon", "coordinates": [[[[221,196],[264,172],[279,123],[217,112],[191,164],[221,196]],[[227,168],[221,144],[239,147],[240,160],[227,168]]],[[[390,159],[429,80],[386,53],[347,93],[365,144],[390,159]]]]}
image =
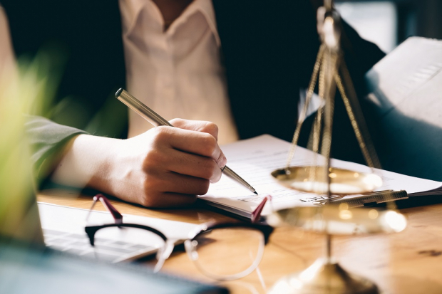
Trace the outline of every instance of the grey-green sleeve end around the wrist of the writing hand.
{"type": "Polygon", "coordinates": [[[63,149],[73,137],[87,134],[83,130],[58,125],[44,117],[26,115],[26,137],[31,149],[31,160],[38,182],[45,179],[60,159],[63,149]]]}

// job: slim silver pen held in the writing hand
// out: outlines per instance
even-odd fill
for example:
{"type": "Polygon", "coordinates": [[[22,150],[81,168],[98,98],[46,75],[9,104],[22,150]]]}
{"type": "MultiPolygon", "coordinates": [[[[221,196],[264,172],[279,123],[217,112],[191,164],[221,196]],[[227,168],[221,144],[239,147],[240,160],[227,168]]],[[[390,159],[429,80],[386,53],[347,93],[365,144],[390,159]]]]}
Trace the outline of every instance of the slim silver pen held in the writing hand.
{"type": "MultiPolygon", "coordinates": [[[[122,103],[124,103],[131,110],[137,112],[138,115],[143,117],[145,120],[148,120],[148,122],[150,122],[152,125],[155,125],[155,127],[158,127],[160,125],[168,125],[169,127],[173,127],[173,125],[170,125],[170,122],[168,122],[163,117],[158,115],[157,112],[151,110],[149,107],[147,107],[140,100],[133,97],[133,95],[130,95],[123,88],[118,89],[117,93],[115,93],[115,98],[120,100],[122,103]]],[[[232,169],[227,167],[227,165],[225,167],[223,167],[221,169],[221,171],[227,177],[234,179],[235,181],[242,184],[244,187],[246,187],[247,189],[249,189],[253,193],[257,194],[257,191],[255,190],[255,188],[250,186],[249,183],[245,182],[245,180],[242,179],[242,177],[240,177],[236,172],[233,172],[232,169]]]]}

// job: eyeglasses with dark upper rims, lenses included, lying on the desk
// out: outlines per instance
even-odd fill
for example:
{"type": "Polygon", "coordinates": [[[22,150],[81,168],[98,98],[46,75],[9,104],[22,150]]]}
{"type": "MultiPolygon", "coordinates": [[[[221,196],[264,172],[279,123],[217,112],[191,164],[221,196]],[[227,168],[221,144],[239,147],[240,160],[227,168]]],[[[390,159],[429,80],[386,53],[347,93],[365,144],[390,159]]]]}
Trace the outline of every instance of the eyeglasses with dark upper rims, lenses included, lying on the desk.
{"type": "MultiPolygon", "coordinates": [[[[156,251],[157,262],[154,271],[160,271],[172,253],[175,242],[150,226],[123,223],[123,216],[102,194],[93,197],[91,211],[98,200],[112,214],[115,222],[85,227],[91,246],[96,251],[96,257],[106,258],[106,248],[111,246],[107,240],[111,238],[113,244],[130,244],[127,250],[138,248],[138,256],[156,251]]],[[[234,280],[255,271],[272,231],[272,227],[262,224],[201,224],[190,233],[184,247],[190,260],[208,277],[216,280],[234,280]]]]}

